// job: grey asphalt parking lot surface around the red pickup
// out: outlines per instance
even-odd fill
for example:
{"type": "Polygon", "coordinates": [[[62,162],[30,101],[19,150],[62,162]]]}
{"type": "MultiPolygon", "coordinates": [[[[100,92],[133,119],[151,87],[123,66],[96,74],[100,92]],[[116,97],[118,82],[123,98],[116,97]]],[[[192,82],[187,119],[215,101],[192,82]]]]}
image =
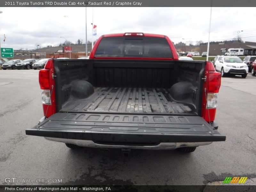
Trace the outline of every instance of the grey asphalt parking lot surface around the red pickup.
{"type": "Polygon", "coordinates": [[[25,134],[43,116],[38,71],[0,70],[1,185],[203,185],[228,176],[248,177],[247,184],[256,184],[256,77],[221,79],[215,120],[227,136],[225,142],[198,147],[191,154],[132,150],[124,159],[118,149],[71,150],[25,134]],[[41,181],[5,182],[7,177],[41,181]]]}

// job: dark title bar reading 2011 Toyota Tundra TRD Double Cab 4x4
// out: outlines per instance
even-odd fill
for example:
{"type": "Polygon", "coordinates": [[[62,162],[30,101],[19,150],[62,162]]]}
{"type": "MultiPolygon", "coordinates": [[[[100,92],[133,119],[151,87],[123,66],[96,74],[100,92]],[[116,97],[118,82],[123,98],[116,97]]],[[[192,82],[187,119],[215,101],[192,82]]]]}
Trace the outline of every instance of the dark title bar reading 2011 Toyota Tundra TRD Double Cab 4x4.
{"type": "MultiPolygon", "coordinates": [[[[255,0],[1,0],[0,7],[256,7],[255,0]]],[[[241,10],[242,11],[242,10],[241,10]]]]}

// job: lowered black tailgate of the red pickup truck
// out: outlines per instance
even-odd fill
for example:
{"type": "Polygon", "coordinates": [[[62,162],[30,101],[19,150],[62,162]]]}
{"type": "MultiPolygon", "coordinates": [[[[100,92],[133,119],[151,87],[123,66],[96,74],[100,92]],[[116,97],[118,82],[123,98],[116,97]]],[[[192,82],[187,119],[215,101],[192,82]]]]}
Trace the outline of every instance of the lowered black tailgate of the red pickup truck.
{"type": "Polygon", "coordinates": [[[27,135],[97,142],[210,142],[225,136],[199,116],[56,113],[27,135]]]}

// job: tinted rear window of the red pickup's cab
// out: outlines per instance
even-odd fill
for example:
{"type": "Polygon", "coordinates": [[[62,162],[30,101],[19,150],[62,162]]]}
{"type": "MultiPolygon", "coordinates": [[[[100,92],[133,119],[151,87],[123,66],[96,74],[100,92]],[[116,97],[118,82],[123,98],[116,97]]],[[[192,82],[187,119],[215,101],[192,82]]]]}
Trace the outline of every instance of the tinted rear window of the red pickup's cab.
{"type": "Polygon", "coordinates": [[[172,58],[171,48],[161,37],[104,37],[94,57],[172,58]]]}

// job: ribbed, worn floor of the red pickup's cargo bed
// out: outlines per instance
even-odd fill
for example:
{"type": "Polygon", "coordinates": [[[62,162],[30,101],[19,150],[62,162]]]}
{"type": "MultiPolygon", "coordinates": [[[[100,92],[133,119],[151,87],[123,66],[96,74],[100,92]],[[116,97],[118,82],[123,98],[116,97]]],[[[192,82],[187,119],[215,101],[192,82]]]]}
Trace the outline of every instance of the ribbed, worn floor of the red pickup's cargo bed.
{"type": "Polygon", "coordinates": [[[194,113],[189,106],[171,101],[168,89],[111,87],[95,87],[90,97],[69,100],[61,111],[194,113]]]}

